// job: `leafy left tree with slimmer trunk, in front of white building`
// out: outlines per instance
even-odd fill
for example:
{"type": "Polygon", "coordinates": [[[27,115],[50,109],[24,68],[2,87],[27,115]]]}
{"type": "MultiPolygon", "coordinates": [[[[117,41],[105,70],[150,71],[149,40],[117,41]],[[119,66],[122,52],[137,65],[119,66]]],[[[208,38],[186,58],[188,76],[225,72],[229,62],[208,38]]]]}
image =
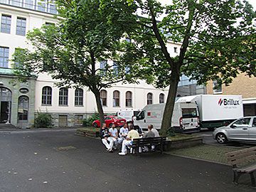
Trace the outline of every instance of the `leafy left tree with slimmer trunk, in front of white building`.
{"type": "MultiPolygon", "coordinates": [[[[58,86],[86,86],[95,95],[100,122],[104,113],[100,90],[117,82],[135,82],[132,71],[139,53],[122,41],[129,28],[134,6],[122,3],[122,10],[104,6],[100,0],[57,0],[58,24],[36,28],[27,35],[32,50],[14,54],[16,75],[26,80],[31,74],[49,73],[58,86]],[[111,12],[111,18],[109,14],[111,12]],[[110,65],[109,61],[114,63],[110,65]],[[106,62],[107,61],[107,62],[106,62]],[[101,68],[100,68],[100,62],[101,68]],[[18,64],[17,64],[18,63],[18,64]]],[[[119,5],[116,4],[116,6],[119,5]]]]}

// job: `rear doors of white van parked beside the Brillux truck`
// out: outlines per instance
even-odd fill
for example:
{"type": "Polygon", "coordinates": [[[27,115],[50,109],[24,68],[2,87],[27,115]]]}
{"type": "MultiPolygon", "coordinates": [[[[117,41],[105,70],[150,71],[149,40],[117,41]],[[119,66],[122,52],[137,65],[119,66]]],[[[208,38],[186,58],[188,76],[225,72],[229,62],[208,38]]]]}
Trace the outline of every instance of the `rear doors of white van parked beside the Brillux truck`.
{"type": "Polygon", "coordinates": [[[183,129],[196,129],[198,128],[198,110],[197,108],[182,108],[181,124],[183,129]]]}

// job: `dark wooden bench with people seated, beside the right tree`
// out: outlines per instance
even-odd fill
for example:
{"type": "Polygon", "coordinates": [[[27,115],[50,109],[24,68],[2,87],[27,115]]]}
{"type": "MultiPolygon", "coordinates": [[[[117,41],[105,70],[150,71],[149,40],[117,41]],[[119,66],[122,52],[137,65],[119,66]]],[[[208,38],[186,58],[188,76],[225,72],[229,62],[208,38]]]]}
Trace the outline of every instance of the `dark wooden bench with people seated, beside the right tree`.
{"type": "Polygon", "coordinates": [[[139,147],[150,147],[155,146],[156,149],[159,149],[161,151],[161,154],[164,151],[164,145],[166,144],[166,137],[149,137],[149,138],[138,138],[138,139],[133,139],[132,141],[132,154],[136,151],[139,151],[139,147]]]}

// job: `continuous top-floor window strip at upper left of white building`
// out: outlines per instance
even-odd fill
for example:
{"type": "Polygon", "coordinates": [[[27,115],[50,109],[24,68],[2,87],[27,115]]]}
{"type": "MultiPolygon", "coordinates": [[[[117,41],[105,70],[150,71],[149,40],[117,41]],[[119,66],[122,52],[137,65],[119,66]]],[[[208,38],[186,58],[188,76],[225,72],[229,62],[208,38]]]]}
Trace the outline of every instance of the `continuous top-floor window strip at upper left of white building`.
{"type": "Polygon", "coordinates": [[[53,0],[0,0],[0,3],[50,14],[57,14],[57,9],[53,0]]]}

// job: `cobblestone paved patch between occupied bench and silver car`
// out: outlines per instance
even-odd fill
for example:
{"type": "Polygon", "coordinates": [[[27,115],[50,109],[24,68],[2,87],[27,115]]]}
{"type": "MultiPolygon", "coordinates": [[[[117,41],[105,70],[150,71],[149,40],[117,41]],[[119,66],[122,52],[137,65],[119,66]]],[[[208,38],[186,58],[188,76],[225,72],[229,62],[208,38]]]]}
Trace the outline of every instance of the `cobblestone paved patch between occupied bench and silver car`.
{"type": "Polygon", "coordinates": [[[191,158],[203,159],[206,161],[214,161],[221,164],[228,164],[225,153],[236,150],[238,150],[238,148],[202,144],[186,149],[174,149],[166,153],[178,156],[188,156],[191,158]]]}

